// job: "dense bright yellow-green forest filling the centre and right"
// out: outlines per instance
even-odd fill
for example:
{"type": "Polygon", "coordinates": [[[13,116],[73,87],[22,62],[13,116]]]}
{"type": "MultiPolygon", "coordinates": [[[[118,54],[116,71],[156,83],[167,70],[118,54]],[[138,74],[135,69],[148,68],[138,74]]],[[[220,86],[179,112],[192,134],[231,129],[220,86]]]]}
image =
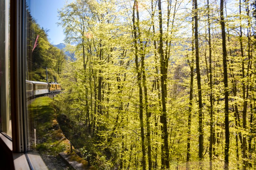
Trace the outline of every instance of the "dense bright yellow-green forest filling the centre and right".
{"type": "Polygon", "coordinates": [[[255,169],[254,3],[66,4],[66,137],[97,169],[255,169]]]}

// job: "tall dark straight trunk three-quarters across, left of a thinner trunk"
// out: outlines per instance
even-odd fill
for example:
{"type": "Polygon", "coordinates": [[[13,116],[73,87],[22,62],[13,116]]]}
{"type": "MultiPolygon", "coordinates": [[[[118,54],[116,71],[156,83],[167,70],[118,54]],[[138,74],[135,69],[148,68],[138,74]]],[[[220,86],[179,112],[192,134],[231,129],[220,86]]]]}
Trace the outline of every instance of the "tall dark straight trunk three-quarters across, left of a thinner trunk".
{"type": "Polygon", "coordinates": [[[197,18],[197,0],[195,0],[195,58],[196,58],[196,75],[197,75],[197,88],[198,88],[198,116],[199,116],[199,164],[203,169],[203,151],[204,151],[204,129],[203,129],[203,104],[202,104],[202,89],[201,89],[201,76],[199,68],[199,49],[198,49],[198,18],[197,18]]]}

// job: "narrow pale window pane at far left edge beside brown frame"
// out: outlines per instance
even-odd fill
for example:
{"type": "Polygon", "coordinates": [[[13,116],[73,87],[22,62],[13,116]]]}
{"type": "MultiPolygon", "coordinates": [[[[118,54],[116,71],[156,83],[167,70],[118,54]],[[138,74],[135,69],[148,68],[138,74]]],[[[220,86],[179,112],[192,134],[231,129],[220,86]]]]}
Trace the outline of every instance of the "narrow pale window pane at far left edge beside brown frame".
{"type": "Polygon", "coordinates": [[[0,131],[12,137],[10,115],[10,37],[9,0],[0,1],[0,131]]]}

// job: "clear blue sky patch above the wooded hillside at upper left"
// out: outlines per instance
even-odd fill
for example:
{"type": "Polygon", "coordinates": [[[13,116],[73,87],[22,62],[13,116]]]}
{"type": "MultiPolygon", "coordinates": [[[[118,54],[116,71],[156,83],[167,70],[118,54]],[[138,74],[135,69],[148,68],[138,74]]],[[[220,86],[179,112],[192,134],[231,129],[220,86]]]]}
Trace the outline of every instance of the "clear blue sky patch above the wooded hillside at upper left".
{"type": "Polygon", "coordinates": [[[61,26],[57,26],[58,9],[61,9],[66,2],[73,0],[27,0],[31,15],[44,29],[49,29],[48,38],[51,44],[63,43],[64,34],[61,26]]]}

